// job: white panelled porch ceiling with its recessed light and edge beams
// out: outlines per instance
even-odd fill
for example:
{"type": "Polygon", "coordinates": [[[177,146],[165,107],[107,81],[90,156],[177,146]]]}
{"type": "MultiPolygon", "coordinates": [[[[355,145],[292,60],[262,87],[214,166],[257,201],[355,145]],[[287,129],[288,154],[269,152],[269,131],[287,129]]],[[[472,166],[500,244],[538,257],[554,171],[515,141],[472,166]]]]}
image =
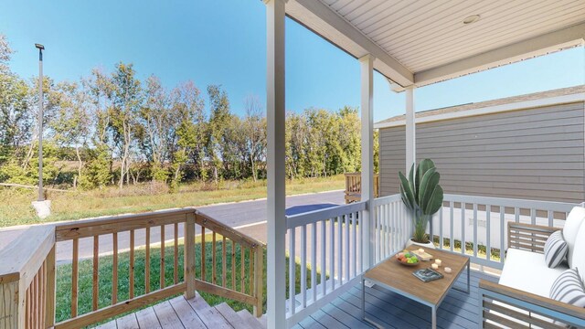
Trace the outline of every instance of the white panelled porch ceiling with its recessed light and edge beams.
{"type": "Polygon", "coordinates": [[[399,86],[424,86],[583,44],[582,0],[290,0],[287,15],[399,86]],[[467,16],[479,15],[473,24],[467,16]]]}

